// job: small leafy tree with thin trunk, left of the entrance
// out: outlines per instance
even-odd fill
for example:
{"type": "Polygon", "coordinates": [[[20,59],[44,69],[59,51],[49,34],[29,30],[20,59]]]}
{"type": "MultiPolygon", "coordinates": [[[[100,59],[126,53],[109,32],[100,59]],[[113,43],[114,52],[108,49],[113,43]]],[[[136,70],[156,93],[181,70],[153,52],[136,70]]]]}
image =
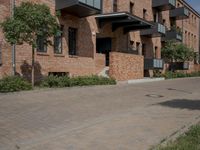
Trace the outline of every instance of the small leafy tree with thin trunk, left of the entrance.
{"type": "Polygon", "coordinates": [[[15,8],[13,17],[2,24],[5,38],[10,44],[28,43],[32,47],[32,86],[34,86],[34,64],[37,38],[42,37],[44,44],[52,45],[51,36],[59,32],[56,16],[53,16],[45,4],[22,2],[15,8]]]}

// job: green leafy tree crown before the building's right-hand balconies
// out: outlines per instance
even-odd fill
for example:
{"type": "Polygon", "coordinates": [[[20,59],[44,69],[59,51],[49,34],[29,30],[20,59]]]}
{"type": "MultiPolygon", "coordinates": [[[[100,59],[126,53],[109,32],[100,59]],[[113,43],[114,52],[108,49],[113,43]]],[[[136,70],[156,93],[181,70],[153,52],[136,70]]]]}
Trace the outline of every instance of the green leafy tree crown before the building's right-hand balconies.
{"type": "Polygon", "coordinates": [[[166,62],[185,62],[194,59],[194,50],[188,48],[182,43],[168,41],[162,48],[162,57],[166,62]]]}

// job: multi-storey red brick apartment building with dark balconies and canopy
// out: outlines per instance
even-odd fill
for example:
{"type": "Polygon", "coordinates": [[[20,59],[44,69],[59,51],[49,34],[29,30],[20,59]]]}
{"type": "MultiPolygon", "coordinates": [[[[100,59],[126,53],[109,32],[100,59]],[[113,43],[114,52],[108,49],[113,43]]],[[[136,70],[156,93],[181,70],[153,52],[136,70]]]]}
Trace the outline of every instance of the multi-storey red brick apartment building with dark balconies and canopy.
{"type": "MultiPolygon", "coordinates": [[[[19,5],[24,0],[15,0],[19,5]]],[[[54,47],[38,40],[37,79],[54,74],[100,74],[117,80],[151,76],[163,69],[161,48],[167,40],[183,42],[199,52],[200,15],[184,0],[33,0],[45,3],[58,18],[62,35],[54,47]],[[180,32],[181,31],[181,32],[180,32]]],[[[0,1],[0,21],[12,4],[0,1]]],[[[16,46],[16,72],[31,77],[31,47],[16,46]]],[[[197,62],[196,62],[197,63],[197,62]]],[[[12,74],[12,51],[0,31],[0,77],[12,74]]],[[[194,70],[194,62],[190,70],[194,70]]]]}

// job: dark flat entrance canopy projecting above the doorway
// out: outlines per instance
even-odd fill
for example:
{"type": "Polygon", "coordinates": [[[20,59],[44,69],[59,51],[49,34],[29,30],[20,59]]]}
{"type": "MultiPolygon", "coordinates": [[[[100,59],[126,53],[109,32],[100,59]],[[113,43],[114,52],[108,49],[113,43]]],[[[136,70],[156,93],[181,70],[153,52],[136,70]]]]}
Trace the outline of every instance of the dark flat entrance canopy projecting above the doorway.
{"type": "Polygon", "coordinates": [[[101,14],[96,16],[96,19],[100,28],[105,23],[111,23],[113,32],[121,27],[124,29],[124,33],[127,33],[135,30],[149,29],[153,26],[150,22],[128,12],[101,14]]]}

